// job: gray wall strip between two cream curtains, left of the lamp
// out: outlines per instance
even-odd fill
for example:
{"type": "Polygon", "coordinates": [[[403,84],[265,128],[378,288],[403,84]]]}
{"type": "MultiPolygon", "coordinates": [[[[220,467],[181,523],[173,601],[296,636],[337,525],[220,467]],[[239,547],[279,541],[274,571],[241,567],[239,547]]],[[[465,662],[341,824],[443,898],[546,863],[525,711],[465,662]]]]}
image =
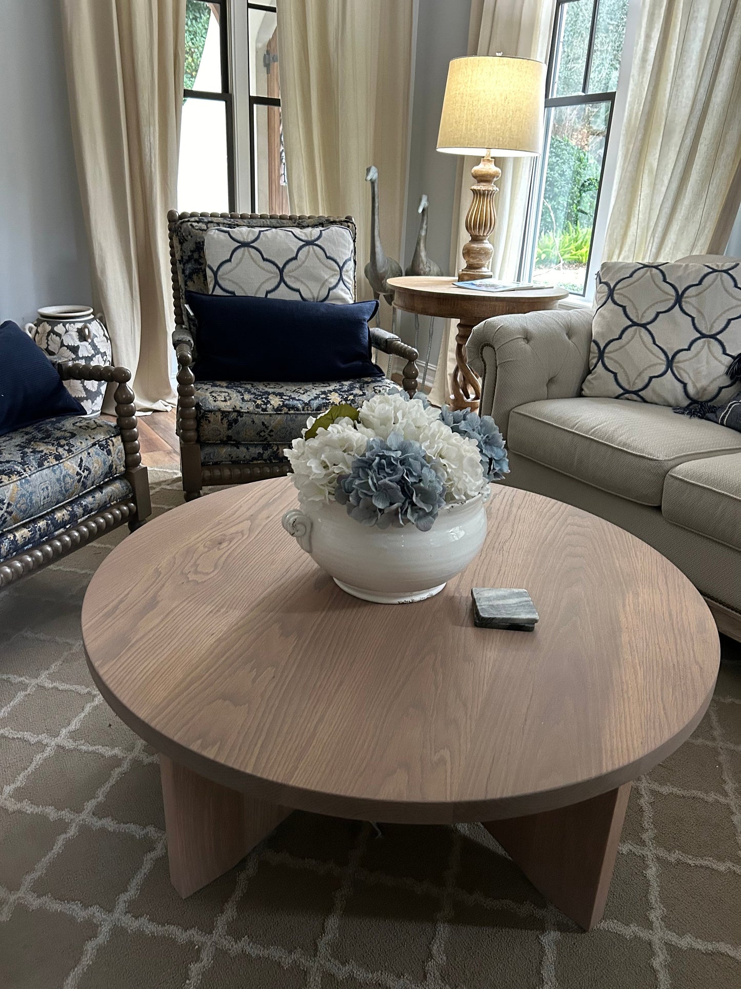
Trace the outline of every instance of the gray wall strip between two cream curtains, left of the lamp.
{"type": "MultiPolygon", "coordinates": [[[[470,0],[419,0],[414,92],[412,95],[411,151],[407,189],[406,268],[412,259],[419,230],[417,207],[422,193],[430,198],[427,252],[448,272],[453,228],[453,197],[457,155],[441,154],[436,149],[440,113],[443,109],[448,63],[466,53],[470,0]]],[[[449,272],[450,273],[450,272],[449,272]]],[[[413,342],[413,317],[400,320],[404,338],[413,342]]],[[[427,352],[429,319],[420,316],[419,349],[424,361],[427,352]]],[[[442,320],[437,320],[431,361],[437,361],[442,320]]],[[[428,382],[430,379],[428,378],[428,382]]]]}

